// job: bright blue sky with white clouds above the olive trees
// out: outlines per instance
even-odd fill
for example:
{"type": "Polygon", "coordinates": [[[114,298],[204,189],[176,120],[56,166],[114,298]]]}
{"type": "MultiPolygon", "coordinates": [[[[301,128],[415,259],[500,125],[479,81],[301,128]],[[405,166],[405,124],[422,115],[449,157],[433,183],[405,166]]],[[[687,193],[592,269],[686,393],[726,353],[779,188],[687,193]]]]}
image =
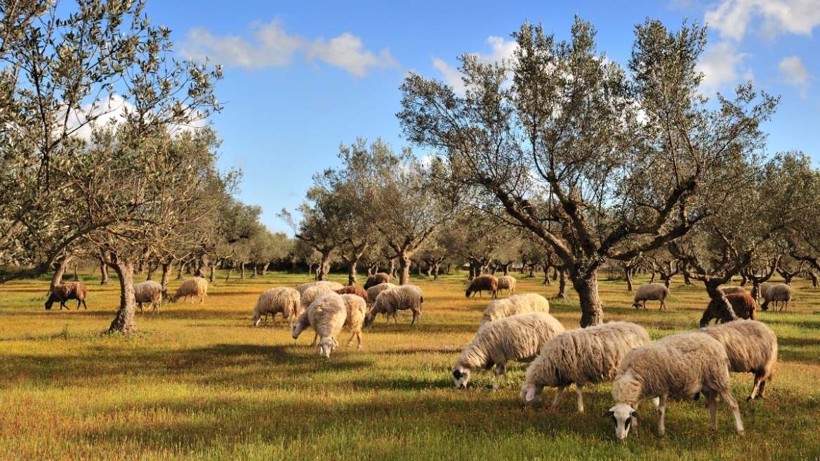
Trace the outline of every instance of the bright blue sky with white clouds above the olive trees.
{"type": "Polygon", "coordinates": [[[173,30],[179,57],[225,66],[213,117],[224,140],[221,166],[241,167],[240,198],[262,206],[262,221],[285,230],[317,171],[338,164],[340,143],[358,136],[403,145],[399,85],[408,71],[458,83],[456,57],[484,60],[511,51],[525,20],[567,38],[577,14],[598,30],[608,57],[626,64],[635,24],[646,17],[676,28],[709,25],[701,60],[709,92],[753,80],[782,96],[769,152],[796,148],[818,159],[820,0],[698,2],[260,2],[148,0],[153,24],[173,30]]]}

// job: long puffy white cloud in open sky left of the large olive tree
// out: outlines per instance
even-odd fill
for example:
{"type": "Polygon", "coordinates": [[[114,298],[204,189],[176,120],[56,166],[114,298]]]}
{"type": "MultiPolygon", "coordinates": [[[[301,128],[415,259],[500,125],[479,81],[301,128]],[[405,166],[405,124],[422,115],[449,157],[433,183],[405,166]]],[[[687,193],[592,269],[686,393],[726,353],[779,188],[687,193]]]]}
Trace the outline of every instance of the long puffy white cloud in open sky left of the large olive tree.
{"type": "Polygon", "coordinates": [[[305,39],[298,34],[288,34],[279,19],[269,24],[254,22],[250,25],[251,40],[235,35],[217,36],[204,27],[189,30],[180,52],[203,60],[245,69],[287,66],[301,52],[308,62],[319,60],[336,66],[353,75],[367,76],[373,67],[395,67],[398,63],[388,48],[376,53],[364,48],[362,39],[344,33],[328,41],[321,37],[305,39]]]}

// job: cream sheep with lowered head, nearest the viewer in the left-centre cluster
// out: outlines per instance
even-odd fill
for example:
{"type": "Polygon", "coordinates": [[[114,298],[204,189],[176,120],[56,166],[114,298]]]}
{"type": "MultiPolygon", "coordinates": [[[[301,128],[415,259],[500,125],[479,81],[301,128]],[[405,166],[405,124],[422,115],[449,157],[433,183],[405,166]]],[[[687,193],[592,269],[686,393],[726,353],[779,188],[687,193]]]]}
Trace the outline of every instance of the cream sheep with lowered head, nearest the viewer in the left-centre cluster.
{"type": "Polygon", "coordinates": [[[314,299],[305,312],[299,316],[297,322],[294,323],[292,335],[296,340],[307,325],[312,326],[316,335],[311,345],[315,345],[316,336],[320,336],[319,354],[324,358],[330,358],[330,352],[339,345],[336,342],[336,335],[342,330],[347,317],[348,310],[344,305],[342,295],[326,291],[319,294],[317,299],[314,299]]]}

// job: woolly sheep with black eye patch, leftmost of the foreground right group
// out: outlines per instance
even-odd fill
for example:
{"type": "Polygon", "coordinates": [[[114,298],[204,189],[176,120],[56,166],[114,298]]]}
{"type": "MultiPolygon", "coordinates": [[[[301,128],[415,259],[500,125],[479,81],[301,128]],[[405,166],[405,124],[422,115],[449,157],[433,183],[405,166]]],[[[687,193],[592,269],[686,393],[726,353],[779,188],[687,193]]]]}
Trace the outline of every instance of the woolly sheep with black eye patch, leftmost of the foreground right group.
{"type": "Polygon", "coordinates": [[[548,313],[522,313],[481,326],[467,349],[456,358],[451,370],[453,382],[459,389],[467,389],[473,370],[495,365],[493,390],[499,388],[502,373],[509,386],[507,362],[532,362],[547,341],[562,331],[561,322],[548,313]]]}

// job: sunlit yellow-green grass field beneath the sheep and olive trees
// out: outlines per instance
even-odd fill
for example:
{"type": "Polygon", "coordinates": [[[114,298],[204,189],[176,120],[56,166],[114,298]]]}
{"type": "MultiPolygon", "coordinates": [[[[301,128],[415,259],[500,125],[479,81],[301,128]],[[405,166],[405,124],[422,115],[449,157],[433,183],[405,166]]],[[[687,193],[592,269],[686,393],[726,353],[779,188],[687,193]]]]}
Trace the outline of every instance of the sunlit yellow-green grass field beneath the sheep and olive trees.
{"type": "MultiPolygon", "coordinates": [[[[644,404],[649,421],[619,442],[601,418],[613,405],[611,383],[585,388],[586,413],[576,413],[572,391],[559,409],[544,408],[554,390],[523,408],[526,364],[512,365],[512,386],[498,392],[484,371],[466,391],[453,387],[449,368],[488,303],[464,298],[463,275],[414,279],[425,293],[420,327],[409,314],[398,326],[379,317],[362,350],[344,347],[343,332],[330,359],[308,347],[312,331],[294,341],[281,322],[250,325],[259,293],[309,281],[305,274],[221,280],[204,306],[137,313],[140,332],[127,336],[103,334],[116,283],[81,279],[88,311],[45,311],[48,281],[0,285],[0,459],[820,458],[820,290],[802,280],[787,313],[758,313],[780,344],[766,399],[747,403],[751,375],[732,376],[745,436],[725,404],[713,432],[703,399],[674,399],[666,436],[655,434],[644,404]]],[[[557,292],[540,280],[519,276],[517,292],[557,292]]],[[[600,291],[605,320],[637,322],[653,339],[694,329],[707,302],[702,285],[682,280],[668,313],[657,302],[635,311],[622,281],[601,281],[600,291]]],[[[581,317],[576,299],[552,302],[551,313],[567,328],[581,317]]]]}

